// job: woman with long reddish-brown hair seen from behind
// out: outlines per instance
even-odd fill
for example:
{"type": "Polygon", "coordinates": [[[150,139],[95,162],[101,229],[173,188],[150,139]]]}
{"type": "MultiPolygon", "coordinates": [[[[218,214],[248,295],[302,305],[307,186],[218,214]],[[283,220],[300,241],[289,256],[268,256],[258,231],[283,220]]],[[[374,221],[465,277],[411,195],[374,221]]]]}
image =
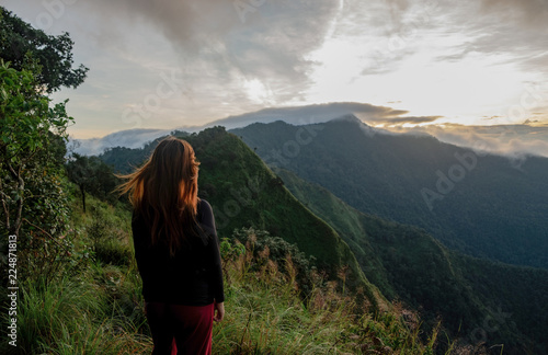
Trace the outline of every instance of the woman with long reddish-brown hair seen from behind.
{"type": "Polygon", "coordinates": [[[198,165],[189,142],[169,137],[121,185],[134,207],[152,354],[210,354],[213,321],[225,316],[215,220],[197,197],[198,165]]]}

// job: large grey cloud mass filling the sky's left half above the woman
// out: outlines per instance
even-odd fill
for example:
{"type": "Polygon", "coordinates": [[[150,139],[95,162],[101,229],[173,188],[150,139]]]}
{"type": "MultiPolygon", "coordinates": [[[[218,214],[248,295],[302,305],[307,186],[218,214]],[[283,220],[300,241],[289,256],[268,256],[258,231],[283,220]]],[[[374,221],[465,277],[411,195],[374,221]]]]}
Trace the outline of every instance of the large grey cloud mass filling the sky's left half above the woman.
{"type": "MultiPolygon", "coordinates": [[[[44,11],[43,3],[28,0],[16,7],[33,20],[44,11]]],[[[307,55],[324,41],[339,7],[331,0],[72,1],[54,24],[55,31],[76,33],[75,42],[88,51],[81,61],[91,68],[89,78],[75,95],[92,99],[71,102],[79,110],[89,106],[107,82],[112,95],[103,99],[115,108],[96,106],[84,114],[88,126],[112,131],[169,127],[175,119],[199,125],[304,102],[313,85],[309,72],[318,66],[307,55]],[[124,111],[145,105],[161,76],[172,71],[184,96],[162,98],[155,117],[126,124],[124,111]],[[98,122],[103,117],[109,123],[98,122]]]]}

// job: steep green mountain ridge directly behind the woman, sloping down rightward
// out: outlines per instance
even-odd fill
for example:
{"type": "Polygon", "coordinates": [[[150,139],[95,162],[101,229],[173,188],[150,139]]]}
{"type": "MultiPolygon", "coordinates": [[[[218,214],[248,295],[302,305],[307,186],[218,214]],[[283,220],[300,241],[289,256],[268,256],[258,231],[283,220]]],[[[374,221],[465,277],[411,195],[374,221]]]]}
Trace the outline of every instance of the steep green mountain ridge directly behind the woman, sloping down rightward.
{"type": "MultiPolygon", "coordinates": [[[[199,134],[182,134],[201,162],[198,196],[214,209],[219,238],[241,228],[266,230],[316,259],[316,266],[336,279],[349,267],[347,285],[362,287],[376,308],[384,298],[364,276],[346,242],[323,220],[300,204],[262,160],[238,137],[222,127],[199,134]]],[[[161,139],[161,138],[159,138],[161,139]]],[[[145,161],[158,144],[144,148],[114,148],[100,156],[115,171],[127,173],[145,161]],[[130,164],[128,164],[130,162],[130,164]]]]}

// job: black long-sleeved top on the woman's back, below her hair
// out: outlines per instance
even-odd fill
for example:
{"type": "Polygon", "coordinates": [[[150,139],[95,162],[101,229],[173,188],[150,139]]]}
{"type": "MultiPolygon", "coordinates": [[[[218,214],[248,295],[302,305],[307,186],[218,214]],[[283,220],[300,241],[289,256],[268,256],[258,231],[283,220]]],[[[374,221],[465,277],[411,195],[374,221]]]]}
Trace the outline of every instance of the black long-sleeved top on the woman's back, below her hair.
{"type": "Polygon", "coordinates": [[[198,202],[196,221],[195,236],[189,237],[171,256],[168,244],[150,244],[150,228],[144,216],[134,214],[135,257],[146,301],[205,306],[214,299],[224,300],[215,221],[212,207],[204,199],[198,202]]]}

